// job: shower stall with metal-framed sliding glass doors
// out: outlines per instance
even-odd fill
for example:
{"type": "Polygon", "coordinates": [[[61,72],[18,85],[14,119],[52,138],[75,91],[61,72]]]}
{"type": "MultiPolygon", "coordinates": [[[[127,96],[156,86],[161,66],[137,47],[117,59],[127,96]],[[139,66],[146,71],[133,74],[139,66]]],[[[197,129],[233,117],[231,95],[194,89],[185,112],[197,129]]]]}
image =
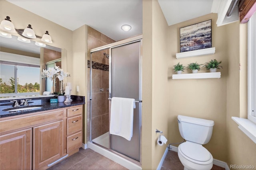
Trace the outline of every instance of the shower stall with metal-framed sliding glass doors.
{"type": "Polygon", "coordinates": [[[107,150],[116,156],[121,156],[135,164],[140,164],[142,137],[142,35],[91,49],[89,78],[90,108],[88,110],[90,111],[88,113],[90,115],[88,117],[90,121],[88,123],[90,126],[88,147],[97,146],[98,149],[107,150]],[[93,57],[96,56],[96,53],[108,59],[109,65],[95,66],[97,63],[94,62],[93,57]],[[107,69],[100,71],[99,68],[107,69]],[[108,86],[106,86],[106,81],[108,86]],[[111,98],[113,97],[133,98],[136,101],[133,136],[130,141],[109,133],[111,98]]]}

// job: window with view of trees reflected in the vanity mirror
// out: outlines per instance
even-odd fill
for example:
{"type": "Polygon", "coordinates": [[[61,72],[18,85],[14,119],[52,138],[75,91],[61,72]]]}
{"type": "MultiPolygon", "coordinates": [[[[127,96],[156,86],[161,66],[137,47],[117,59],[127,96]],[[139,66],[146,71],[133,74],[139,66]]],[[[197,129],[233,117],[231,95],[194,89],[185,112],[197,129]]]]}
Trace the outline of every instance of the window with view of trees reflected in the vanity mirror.
{"type": "Polygon", "coordinates": [[[40,94],[40,59],[0,52],[0,97],[40,94]]]}

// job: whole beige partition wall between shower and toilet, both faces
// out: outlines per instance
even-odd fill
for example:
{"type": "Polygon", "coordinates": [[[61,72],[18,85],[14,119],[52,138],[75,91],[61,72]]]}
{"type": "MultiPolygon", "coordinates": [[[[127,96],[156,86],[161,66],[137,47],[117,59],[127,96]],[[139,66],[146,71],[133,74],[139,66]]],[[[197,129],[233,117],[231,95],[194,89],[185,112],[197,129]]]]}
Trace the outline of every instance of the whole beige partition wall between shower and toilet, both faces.
{"type": "Polygon", "coordinates": [[[167,35],[168,25],[158,2],[143,1],[142,169],[156,169],[167,147],[167,143],[157,145],[159,133],[155,133],[158,129],[167,137],[169,130],[167,35]]]}

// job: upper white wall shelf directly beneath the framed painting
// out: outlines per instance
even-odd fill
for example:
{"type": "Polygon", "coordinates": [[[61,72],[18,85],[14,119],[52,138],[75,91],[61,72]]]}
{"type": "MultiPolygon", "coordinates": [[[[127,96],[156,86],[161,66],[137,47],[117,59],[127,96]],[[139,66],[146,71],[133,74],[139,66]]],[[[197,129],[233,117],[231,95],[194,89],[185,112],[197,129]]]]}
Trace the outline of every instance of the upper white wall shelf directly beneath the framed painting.
{"type": "Polygon", "coordinates": [[[215,47],[207,48],[207,49],[200,49],[200,50],[193,50],[193,51],[186,51],[182,53],[176,53],[176,58],[185,58],[185,57],[197,57],[202,55],[212,55],[215,53],[215,47]]]}

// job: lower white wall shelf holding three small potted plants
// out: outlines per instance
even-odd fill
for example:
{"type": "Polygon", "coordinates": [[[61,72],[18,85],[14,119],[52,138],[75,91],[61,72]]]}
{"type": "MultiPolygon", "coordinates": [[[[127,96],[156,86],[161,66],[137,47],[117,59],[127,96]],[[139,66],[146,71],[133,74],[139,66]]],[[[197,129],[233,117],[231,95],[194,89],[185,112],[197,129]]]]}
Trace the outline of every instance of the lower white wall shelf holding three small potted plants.
{"type": "Polygon", "coordinates": [[[220,72],[172,74],[172,79],[202,79],[202,78],[220,78],[220,72]]]}

